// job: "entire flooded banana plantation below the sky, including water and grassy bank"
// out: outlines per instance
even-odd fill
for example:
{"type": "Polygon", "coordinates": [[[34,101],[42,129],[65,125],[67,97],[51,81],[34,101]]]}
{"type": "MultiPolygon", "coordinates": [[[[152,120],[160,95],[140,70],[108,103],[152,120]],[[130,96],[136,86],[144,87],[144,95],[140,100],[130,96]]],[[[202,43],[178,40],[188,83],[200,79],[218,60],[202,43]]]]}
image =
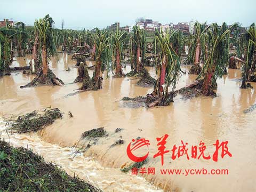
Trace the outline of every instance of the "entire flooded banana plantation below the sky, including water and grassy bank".
{"type": "Polygon", "coordinates": [[[256,191],[254,23],[54,21],[0,27],[1,191],[256,191]]]}

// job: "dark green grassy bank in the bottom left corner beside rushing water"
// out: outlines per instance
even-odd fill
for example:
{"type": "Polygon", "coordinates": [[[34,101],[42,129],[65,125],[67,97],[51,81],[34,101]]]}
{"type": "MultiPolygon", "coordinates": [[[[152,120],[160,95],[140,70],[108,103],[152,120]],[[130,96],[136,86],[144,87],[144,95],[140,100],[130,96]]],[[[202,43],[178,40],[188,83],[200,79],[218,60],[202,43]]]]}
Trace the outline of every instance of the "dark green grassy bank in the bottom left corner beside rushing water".
{"type": "Polygon", "coordinates": [[[0,191],[101,191],[25,148],[0,141],[0,191]]]}

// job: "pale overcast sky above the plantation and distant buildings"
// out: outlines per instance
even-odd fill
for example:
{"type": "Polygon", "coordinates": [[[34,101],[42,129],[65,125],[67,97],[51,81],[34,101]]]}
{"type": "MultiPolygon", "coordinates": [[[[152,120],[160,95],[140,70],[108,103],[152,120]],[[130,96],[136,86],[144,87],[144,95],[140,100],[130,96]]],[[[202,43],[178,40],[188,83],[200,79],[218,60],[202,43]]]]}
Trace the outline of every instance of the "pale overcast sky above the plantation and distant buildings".
{"type": "Polygon", "coordinates": [[[250,26],[256,22],[256,0],[1,0],[0,20],[7,18],[34,25],[35,19],[47,13],[60,28],[103,28],[114,22],[132,25],[143,17],[162,24],[189,22],[240,22],[250,26]]]}

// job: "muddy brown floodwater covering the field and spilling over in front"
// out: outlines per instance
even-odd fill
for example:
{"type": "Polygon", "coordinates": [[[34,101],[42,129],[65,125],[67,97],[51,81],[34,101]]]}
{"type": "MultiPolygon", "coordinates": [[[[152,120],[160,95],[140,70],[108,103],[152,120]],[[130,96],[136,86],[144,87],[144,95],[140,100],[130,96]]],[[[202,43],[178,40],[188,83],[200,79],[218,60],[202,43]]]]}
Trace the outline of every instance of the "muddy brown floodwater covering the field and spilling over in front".
{"type": "MultiPolygon", "coordinates": [[[[89,179],[105,191],[155,191],[157,187],[165,191],[256,191],[256,110],[244,113],[256,102],[255,89],[239,89],[241,71],[229,69],[228,75],[218,80],[218,97],[198,97],[184,100],[181,95],[174,98],[174,103],[167,107],[147,109],[123,107],[123,97],[146,95],[152,88],[136,86],[138,79],[134,77],[104,78],[102,90],[79,93],[75,92],[81,84],[72,83],[77,76],[75,61],[71,55],[58,54],[59,60],[51,59],[50,68],[65,86],[42,86],[20,89],[33,79],[33,76],[22,74],[22,71],[11,76],[0,78],[0,117],[20,115],[45,107],[58,107],[65,114],[49,127],[37,134],[11,135],[10,141],[16,146],[29,146],[42,154],[46,161],[60,164],[68,173],[76,172],[82,179],[89,179]],[[70,71],[66,69],[70,67],[70,71]],[[68,117],[71,111],[73,118],[68,117]],[[70,148],[78,142],[85,131],[105,127],[109,136],[99,139],[98,145],[92,146],[86,153],[68,158],[70,148]],[[115,133],[116,128],[122,128],[115,133]],[[218,162],[211,159],[202,160],[181,156],[175,160],[172,154],[161,158],[153,158],[157,153],[156,137],[169,134],[166,150],[173,145],[180,146],[181,140],[191,146],[199,146],[203,141],[205,154],[214,153],[216,140],[228,141],[228,149],[232,157],[221,158],[218,162]],[[122,136],[124,145],[110,146],[122,136]],[[150,140],[149,162],[145,167],[155,167],[155,175],[138,177],[119,171],[119,167],[130,163],[126,155],[126,147],[137,137],[150,140]],[[160,169],[228,169],[228,175],[163,175],[160,169]],[[152,183],[154,186],[149,184],[152,183]]],[[[13,66],[26,66],[30,56],[17,58],[13,66]]],[[[87,64],[93,65],[91,61],[87,64]]],[[[188,72],[190,66],[182,66],[188,72]]],[[[148,68],[155,76],[154,69],[148,68]]],[[[126,66],[125,73],[130,71],[126,66]]],[[[89,70],[90,76],[93,71],[89,70]]],[[[105,74],[106,77],[106,74],[105,74]]],[[[183,75],[177,89],[194,81],[195,75],[183,75]]],[[[255,83],[252,86],[256,87],[255,83]]],[[[2,126],[4,124],[2,123],[2,126]]],[[[2,133],[4,135],[4,132],[2,133]]],[[[5,135],[7,140],[8,137],[5,135]]],[[[7,140],[8,141],[8,140],[7,140]]],[[[86,145],[89,141],[84,141],[86,145]]],[[[141,149],[146,154],[147,149],[141,149]]],[[[189,152],[191,154],[191,152],[189,152]]]]}

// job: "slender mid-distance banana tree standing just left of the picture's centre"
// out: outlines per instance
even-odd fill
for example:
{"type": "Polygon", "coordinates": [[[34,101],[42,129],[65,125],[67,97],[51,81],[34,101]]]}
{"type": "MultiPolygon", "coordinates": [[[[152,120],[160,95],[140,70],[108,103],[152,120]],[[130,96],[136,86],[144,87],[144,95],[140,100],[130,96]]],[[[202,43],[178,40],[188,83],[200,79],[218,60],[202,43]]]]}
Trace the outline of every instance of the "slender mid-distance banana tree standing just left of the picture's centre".
{"type": "Polygon", "coordinates": [[[114,34],[111,34],[111,46],[112,46],[112,63],[115,68],[114,77],[124,77],[124,72],[122,70],[121,58],[123,55],[124,41],[127,37],[126,31],[116,30],[114,34]]]}

